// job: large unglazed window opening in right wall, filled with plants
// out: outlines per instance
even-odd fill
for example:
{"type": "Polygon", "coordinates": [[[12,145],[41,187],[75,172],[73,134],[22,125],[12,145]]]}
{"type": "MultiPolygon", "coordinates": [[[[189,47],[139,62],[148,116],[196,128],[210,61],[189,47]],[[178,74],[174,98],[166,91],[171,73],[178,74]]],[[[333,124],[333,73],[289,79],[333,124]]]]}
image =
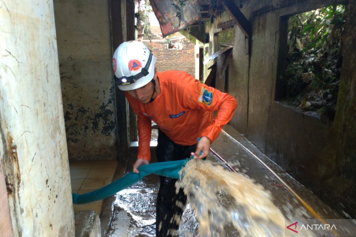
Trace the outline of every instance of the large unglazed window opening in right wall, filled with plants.
{"type": "Polygon", "coordinates": [[[332,122],[342,64],[345,5],[281,18],[276,100],[332,122]]]}

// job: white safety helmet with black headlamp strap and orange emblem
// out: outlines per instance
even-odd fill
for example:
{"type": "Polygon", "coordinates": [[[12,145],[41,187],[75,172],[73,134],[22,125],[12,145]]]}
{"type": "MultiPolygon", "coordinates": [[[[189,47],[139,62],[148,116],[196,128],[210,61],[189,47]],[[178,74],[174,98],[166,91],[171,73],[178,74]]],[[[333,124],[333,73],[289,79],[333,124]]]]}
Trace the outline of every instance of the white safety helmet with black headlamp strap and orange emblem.
{"type": "Polygon", "coordinates": [[[135,90],[148,84],[155,74],[155,61],[151,50],[142,42],[120,44],[112,56],[112,70],[119,89],[135,90]]]}

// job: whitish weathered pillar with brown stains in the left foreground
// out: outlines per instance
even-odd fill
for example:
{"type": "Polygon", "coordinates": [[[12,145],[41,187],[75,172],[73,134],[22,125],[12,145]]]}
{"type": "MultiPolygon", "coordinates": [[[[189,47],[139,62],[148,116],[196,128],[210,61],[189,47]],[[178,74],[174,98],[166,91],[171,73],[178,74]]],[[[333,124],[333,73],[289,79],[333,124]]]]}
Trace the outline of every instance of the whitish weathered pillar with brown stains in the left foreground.
{"type": "Polygon", "coordinates": [[[14,235],[74,236],[52,1],[2,1],[0,19],[0,172],[14,235]]]}

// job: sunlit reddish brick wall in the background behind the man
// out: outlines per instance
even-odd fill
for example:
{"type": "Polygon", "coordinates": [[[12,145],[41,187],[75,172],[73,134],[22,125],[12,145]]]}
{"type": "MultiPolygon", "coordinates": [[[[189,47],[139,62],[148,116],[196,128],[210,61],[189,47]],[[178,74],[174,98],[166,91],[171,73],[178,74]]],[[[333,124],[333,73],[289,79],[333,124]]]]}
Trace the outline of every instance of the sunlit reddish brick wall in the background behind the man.
{"type": "Polygon", "coordinates": [[[143,40],[156,57],[157,71],[181,70],[195,75],[195,45],[185,39],[183,49],[167,49],[165,39],[143,40]]]}

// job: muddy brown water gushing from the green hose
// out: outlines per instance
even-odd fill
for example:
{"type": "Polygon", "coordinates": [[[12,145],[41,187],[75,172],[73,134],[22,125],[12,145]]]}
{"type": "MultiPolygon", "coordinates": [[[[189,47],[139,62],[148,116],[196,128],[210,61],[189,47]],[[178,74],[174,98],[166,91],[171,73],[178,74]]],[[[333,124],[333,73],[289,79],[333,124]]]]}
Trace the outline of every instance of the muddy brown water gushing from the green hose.
{"type": "Polygon", "coordinates": [[[190,160],[179,174],[176,188],[184,188],[200,236],[224,236],[227,224],[241,237],[284,235],[284,216],[262,185],[210,161],[190,160]]]}

